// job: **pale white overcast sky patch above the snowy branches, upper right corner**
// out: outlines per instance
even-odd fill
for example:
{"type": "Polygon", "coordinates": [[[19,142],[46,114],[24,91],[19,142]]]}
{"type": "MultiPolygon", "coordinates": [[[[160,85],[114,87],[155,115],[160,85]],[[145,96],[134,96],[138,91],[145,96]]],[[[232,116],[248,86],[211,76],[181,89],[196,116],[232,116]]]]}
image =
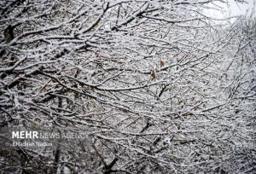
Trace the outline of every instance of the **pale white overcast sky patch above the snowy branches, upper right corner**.
{"type": "MultiPolygon", "coordinates": [[[[253,10],[253,7],[256,4],[256,0],[247,0],[247,3],[236,3],[235,0],[229,0],[229,5],[224,5],[224,3],[215,3],[219,7],[223,8],[223,12],[219,10],[214,10],[214,9],[207,9],[205,10],[205,13],[213,18],[217,19],[223,19],[225,17],[230,17],[230,16],[236,16],[236,15],[241,15],[241,14],[255,14],[255,10],[253,10]]],[[[218,8],[214,5],[211,7],[218,8]]],[[[255,9],[255,8],[254,8],[255,9]]],[[[234,21],[235,19],[233,19],[234,21]]],[[[232,21],[232,20],[231,20],[232,21]]]]}

